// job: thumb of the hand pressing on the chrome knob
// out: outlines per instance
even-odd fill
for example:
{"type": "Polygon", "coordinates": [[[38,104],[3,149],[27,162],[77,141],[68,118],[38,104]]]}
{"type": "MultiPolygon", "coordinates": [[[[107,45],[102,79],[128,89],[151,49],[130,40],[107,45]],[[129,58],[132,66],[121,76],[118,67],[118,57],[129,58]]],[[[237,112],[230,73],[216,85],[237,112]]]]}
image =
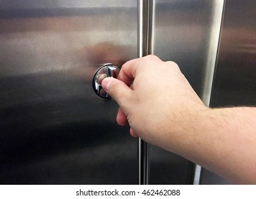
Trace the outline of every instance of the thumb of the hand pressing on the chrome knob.
{"type": "Polygon", "coordinates": [[[102,80],[101,86],[113,99],[116,100],[120,107],[127,105],[130,101],[132,90],[121,80],[113,77],[106,77],[102,80]]]}

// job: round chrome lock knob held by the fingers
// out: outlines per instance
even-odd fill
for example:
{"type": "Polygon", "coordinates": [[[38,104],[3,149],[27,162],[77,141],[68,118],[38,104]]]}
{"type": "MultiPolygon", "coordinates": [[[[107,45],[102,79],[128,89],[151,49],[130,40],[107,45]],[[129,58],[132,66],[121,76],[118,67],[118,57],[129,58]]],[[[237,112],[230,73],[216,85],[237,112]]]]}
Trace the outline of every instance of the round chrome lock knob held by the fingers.
{"type": "Polygon", "coordinates": [[[107,63],[102,65],[94,75],[94,79],[92,80],[92,85],[94,87],[94,91],[99,97],[103,97],[105,99],[112,99],[110,95],[104,90],[101,86],[102,80],[106,77],[114,77],[117,78],[120,72],[120,68],[111,63],[107,63]]]}

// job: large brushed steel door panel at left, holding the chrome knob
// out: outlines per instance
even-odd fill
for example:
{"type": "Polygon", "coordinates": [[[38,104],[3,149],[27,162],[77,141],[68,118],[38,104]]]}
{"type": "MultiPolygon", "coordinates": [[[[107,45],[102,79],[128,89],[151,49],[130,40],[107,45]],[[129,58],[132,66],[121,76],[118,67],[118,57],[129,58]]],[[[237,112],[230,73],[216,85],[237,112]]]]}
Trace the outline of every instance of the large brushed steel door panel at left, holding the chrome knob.
{"type": "Polygon", "coordinates": [[[137,57],[137,1],[0,5],[0,183],[138,183],[138,140],[91,86],[137,57]]]}

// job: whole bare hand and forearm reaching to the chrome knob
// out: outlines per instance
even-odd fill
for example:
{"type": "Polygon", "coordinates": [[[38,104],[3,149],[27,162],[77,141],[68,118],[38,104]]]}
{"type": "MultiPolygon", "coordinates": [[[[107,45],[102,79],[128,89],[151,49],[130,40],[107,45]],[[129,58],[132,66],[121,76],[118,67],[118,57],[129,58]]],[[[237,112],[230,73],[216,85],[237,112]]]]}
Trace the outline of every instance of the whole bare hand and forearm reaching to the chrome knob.
{"type": "Polygon", "coordinates": [[[232,183],[256,184],[255,107],[206,107],[179,66],[155,55],[128,61],[102,87],[118,102],[116,120],[130,125],[131,136],[232,183]]]}

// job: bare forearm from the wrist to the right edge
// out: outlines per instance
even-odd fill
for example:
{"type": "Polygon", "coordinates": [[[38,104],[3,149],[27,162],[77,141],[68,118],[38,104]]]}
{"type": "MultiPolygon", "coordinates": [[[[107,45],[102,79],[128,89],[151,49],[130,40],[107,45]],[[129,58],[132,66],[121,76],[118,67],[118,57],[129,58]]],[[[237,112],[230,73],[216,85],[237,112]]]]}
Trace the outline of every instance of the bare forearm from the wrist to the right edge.
{"type": "Polygon", "coordinates": [[[256,183],[256,108],[207,109],[195,119],[181,154],[233,183],[256,183]]]}

